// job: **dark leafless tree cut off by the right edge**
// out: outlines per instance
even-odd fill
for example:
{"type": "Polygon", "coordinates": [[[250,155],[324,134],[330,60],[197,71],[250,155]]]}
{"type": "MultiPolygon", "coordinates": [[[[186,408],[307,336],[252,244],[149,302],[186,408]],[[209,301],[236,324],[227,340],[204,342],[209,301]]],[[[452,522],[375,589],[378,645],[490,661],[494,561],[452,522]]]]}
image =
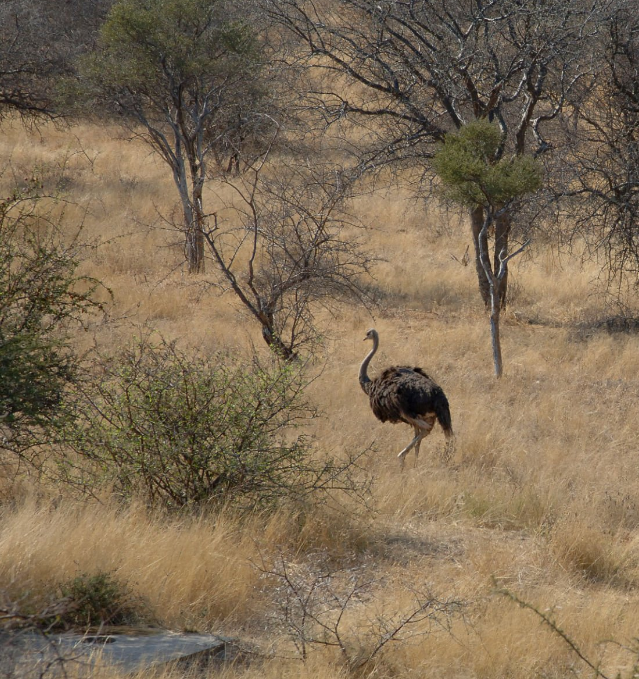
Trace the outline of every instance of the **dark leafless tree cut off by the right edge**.
{"type": "Polygon", "coordinates": [[[620,0],[602,33],[600,75],[567,122],[572,233],[603,252],[609,283],[639,280],[639,3],[620,0]]]}

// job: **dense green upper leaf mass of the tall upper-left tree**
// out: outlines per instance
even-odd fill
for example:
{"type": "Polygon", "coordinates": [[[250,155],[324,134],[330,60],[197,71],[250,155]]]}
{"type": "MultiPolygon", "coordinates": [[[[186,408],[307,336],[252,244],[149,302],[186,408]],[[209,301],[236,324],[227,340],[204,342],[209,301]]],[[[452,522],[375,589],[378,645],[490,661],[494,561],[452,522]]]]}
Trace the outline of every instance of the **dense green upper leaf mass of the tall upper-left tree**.
{"type": "MultiPolygon", "coordinates": [[[[230,103],[239,93],[221,88],[246,80],[258,66],[255,34],[219,0],[120,0],[84,72],[104,88],[128,93],[134,108],[146,104],[152,111],[163,110],[169,98],[190,96],[195,104],[213,91],[230,103]]],[[[211,110],[221,99],[208,102],[211,110]]]]}

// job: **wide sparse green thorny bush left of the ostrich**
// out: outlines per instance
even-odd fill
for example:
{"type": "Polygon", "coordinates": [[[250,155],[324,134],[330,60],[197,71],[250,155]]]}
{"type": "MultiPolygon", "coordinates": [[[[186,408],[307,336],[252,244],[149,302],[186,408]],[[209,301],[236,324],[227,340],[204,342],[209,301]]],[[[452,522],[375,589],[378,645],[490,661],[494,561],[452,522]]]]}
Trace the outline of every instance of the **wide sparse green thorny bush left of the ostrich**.
{"type": "Polygon", "coordinates": [[[78,393],[62,459],[66,480],[108,483],[125,498],[181,507],[269,505],[330,484],[338,466],[317,462],[296,433],[315,413],[296,365],[267,366],[183,353],[148,340],[100,359],[78,393]]]}

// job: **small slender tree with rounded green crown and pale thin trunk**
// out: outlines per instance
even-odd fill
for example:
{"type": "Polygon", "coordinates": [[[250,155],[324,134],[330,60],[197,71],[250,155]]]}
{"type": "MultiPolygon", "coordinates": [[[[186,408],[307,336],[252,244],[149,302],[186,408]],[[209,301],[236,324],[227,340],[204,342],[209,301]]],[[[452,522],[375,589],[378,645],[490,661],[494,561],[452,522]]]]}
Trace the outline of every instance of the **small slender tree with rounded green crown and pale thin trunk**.
{"type": "Polygon", "coordinates": [[[471,210],[481,209],[484,215],[478,238],[479,256],[490,295],[490,333],[498,378],[503,373],[499,332],[501,284],[508,262],[528,243],[512,253],[507,244],[503,244],[491,262],[486,245],[488,232],[504,213],[513,213],[519,198],[541,185],[541,168],[535,160],[527,155],[500,158],[500,144],[499,128],[487,121],[478,121],[462,127],[458,134],[446,135],[445,144],[433,158],[445,195],[471,210]]]}

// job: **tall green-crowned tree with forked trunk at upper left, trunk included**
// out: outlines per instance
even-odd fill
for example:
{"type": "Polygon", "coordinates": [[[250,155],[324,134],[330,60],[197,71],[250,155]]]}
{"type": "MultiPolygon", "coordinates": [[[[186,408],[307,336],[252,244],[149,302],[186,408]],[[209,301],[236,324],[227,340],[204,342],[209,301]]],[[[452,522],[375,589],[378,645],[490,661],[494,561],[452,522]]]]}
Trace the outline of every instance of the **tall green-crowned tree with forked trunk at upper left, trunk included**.
{"type": "Polygon", "coordinates": [[[119,114],[171,168],[191,273],[204,270],[210,165],[237,167],[248,140],[273,124],[242,11],[225,0],[118,0],[80,67],[84,104],[119,114]]]}

